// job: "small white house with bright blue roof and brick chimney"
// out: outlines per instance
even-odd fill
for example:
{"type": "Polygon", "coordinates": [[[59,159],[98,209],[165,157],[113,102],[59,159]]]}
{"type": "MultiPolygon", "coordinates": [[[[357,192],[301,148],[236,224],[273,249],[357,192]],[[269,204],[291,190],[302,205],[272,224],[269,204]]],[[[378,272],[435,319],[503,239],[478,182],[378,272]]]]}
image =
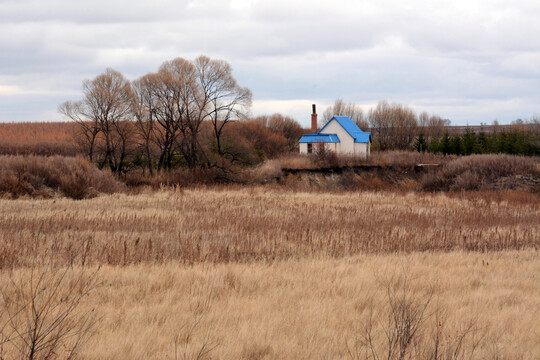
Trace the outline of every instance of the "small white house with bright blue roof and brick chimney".
{"type": "Polygon", "coordinates": [[[316,146],[324,146],[336,154],[369,156],[371,133],[362,131],[348,116],[334,116],[317,131],[317,114],[313,105],[311,131],[311,134],[300,138],[301,154],[315,152],[316,146]]]}

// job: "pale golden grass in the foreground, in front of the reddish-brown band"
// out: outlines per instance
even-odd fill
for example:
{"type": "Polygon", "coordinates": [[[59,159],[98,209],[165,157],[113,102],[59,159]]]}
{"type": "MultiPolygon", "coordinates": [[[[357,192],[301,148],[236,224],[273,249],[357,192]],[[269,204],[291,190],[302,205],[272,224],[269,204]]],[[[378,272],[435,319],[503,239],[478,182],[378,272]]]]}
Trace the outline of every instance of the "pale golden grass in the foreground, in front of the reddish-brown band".
{"type": "Polygon", "coordinates": [[[408,274],[408,295],[432,293],[426,314],[438,311],[426,317],[418,351],[432,348],[432,331],[442,353],[472,329],[464,347],[478,341],[475,353],[456,359],[538,359],[538,273],[537,251],[105,266],[102,286],[77,308],[99,319],[79,354],[193,359],[206,346],[205,359],[349,359],[370,318],[382,354],[391,314],[385,284],[408,274]]]}

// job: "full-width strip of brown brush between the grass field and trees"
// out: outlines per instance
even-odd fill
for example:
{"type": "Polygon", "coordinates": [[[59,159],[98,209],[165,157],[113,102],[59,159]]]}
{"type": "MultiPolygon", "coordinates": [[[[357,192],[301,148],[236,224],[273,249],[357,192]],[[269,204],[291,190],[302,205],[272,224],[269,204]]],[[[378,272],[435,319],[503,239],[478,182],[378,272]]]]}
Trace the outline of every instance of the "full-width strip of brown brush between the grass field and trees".
{"type": "MultiPolygon", "coordinates": [[[[230,128],[235,126],[232,124],[230,128]]],[[[264,131],[270,130],[265,128],[264,131]]],[[[237,144],[236,149],[240,146],[237,144]]],[[[262,149],[266,147],[263,145],[262,149]]],[[[247,153],[248,150],[243,155],[244,160],[249,158],[247,153]]],[[[258,160],[252,158],[251,161],[256,163],[258,160]]],[[[153,173],[143,168],[116,177],[81,158],[4,156],[0,157],[0,163],[5,168],[0,174],[0,194],[8,197],[67,196],[80,199],[100,192],[123,191],[126,189],[123,185],[140,191],[146,186],[160,189],[219,184],[270,184],[295,191],[520,190],[540,193],[538,159],[509,155],[452,157],[394,151],[374,152],[367,160],[333,154],[289,155],[256,166],[231,166],[216,161],[215,166],[208,168],[178,168],[153,173]]]]}

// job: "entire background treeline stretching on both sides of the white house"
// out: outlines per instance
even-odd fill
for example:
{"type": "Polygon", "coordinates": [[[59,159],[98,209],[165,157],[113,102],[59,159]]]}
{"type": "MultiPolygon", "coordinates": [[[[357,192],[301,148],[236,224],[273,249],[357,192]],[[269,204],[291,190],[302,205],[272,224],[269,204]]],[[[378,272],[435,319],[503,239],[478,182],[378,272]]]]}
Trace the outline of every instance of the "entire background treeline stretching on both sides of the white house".
{"type": "MultiPolygon", "coordinates": [[[[83,85],[81,101],[59,108],[74,121],[0,124],[0,154],[83,156],[123,174],[197,168],[224,176],[231,167],[297,153],[298,140],[310,131],[278,113],[249,118],[243,111],[250,92],[238,87],[227,63],[206,57],[166,62],[133,82],[108,69],[83,85]]],[[[538,116],[452,127],[448,119],[401,104],[381,101],[364,112],[338,99],[319,117],[319,127],[334,115],[370,131],[373,151],[540,155],[538,116]]]]}

